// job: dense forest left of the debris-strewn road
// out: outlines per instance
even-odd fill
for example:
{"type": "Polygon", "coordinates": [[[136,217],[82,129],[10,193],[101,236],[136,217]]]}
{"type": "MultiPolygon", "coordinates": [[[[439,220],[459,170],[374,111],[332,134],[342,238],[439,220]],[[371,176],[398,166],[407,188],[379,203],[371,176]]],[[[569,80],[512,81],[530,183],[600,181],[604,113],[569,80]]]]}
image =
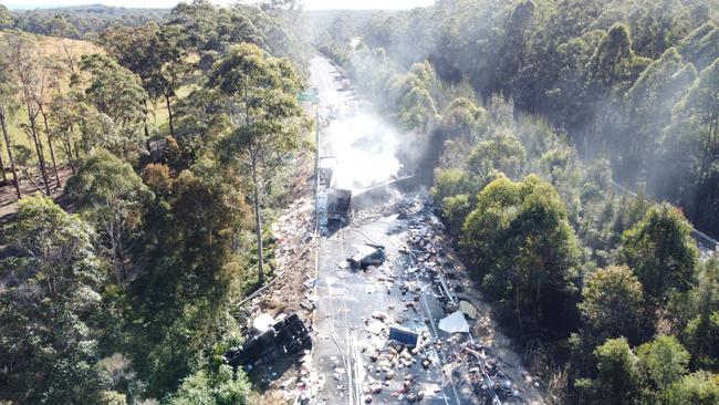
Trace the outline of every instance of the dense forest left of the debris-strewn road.
{"type": "Polygon", "coordinates": [[[0,7],[0,403],[257,403],[219,356],[275,271],[306,51],[270,7],[93,13],[0,7]]]}

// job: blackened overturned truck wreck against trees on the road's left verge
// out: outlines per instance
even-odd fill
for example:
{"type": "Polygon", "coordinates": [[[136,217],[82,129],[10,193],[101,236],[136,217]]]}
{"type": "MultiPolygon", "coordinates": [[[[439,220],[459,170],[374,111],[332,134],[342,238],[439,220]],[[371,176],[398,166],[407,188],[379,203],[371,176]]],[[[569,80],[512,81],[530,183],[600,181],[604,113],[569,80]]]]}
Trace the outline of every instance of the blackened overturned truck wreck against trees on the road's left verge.
{"type": "Polygon", "coordinates": [[[280,356],[311,347],[310,330],[296,313],[292,313],[248,339],[241,346],[228,350],[222,360],[235,368],[250,371],[280,356]]]}

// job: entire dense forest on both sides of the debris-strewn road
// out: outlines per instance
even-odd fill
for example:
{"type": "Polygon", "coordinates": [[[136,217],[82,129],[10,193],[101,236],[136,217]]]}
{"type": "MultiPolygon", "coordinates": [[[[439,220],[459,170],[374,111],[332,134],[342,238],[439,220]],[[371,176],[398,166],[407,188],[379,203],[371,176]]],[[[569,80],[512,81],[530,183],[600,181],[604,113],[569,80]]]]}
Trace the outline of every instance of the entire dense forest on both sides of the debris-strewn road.
{"type": "Polygon", "coordinates": [[[0,6],[0,404],[263,403],[220,355],[315,51],[404,132],[548,403],[719,403],[719,1],[298,4],[0,6]]]}

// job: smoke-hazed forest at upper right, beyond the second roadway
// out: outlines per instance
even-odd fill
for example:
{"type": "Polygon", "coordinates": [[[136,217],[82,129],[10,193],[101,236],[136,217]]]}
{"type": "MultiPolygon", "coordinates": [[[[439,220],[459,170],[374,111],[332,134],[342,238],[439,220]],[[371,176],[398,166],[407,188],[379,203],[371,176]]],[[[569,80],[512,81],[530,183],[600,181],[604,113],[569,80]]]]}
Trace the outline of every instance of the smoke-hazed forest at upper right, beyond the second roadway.
{"type": "Polygon", "coordinates": [[[711,0],[439,1],[340,13],[316,43],[342,62],[362,37],[399,71],[428,61],[444,83],[469,84],[481,100],[501,94],[518,114],[564,129],[583,158],[609,159],[617,181],[716,235],[719,149],[706,97],[716,100],[718,10],[711,0]]]}

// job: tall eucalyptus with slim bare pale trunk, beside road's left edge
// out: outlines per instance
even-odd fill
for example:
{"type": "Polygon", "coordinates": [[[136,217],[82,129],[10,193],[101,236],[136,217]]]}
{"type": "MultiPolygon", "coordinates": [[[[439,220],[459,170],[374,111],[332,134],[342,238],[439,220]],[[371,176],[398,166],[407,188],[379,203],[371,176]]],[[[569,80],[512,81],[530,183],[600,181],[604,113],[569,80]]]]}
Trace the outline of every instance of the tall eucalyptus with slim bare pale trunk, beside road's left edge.
{"type": "Polygon", "coordinates": [[[301,82],[289,61],[244,43],[215,64],[208,86],[225,97],[231,124],[230,134],[220,142],[221,153],[240,176],[249,177],[261,284],[263,197],[278,169],[302,146],[300,135],[308,122],[296,100],[301,82]]]}

